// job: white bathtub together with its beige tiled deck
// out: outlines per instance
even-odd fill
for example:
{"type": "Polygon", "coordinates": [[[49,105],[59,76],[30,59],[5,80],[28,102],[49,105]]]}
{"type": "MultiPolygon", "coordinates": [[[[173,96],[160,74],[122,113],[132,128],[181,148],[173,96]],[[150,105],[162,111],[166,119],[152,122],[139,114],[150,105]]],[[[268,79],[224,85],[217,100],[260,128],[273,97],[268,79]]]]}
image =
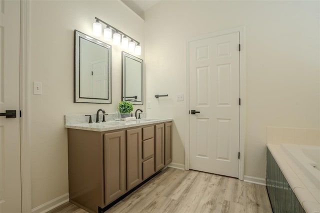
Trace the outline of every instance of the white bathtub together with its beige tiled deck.
{"type": "Polygon", "coordinates": [[[267,143],[267,148],[304,211],[320,212],[320,146],[267,143]]]}

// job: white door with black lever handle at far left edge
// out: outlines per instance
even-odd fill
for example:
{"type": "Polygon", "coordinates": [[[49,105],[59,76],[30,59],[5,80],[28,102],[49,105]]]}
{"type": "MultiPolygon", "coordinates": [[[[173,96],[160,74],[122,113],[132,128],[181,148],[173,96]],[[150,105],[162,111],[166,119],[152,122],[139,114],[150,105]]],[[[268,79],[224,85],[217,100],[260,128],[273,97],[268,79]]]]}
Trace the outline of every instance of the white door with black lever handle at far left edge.
{"type": "Polygon", "coordinates": [[[0,0],[0,213],[21,212],[19,43],[20,1],[0,0]]]}

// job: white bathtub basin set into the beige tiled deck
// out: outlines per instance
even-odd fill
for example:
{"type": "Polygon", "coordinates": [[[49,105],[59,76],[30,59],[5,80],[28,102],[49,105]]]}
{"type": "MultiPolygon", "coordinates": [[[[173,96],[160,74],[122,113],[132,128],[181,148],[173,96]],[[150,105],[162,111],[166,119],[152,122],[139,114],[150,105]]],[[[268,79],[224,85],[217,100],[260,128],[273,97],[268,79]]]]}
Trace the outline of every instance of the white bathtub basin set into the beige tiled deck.
{"type": "Polygon", "coordinates": [[[320,189],[320,146],[281,144],[281,148],[316,188],[320,189]]]}

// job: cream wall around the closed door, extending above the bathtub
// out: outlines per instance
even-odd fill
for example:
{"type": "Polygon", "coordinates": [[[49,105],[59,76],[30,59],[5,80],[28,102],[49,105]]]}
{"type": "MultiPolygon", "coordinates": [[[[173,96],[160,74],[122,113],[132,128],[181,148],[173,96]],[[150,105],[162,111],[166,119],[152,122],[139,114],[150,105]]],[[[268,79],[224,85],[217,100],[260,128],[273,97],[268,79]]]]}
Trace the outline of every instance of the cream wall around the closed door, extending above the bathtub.
{"type": "Polygon", "coordinates": [[[186,40],[246,28],[244,174],[265,177],[266,126],[319,128],[318,1],[160,1],[145,13],[148,116],[173,117],[173,159],[184,163],[186,40]],[[154,94],[169,94],[154,98],[154,94]]]}

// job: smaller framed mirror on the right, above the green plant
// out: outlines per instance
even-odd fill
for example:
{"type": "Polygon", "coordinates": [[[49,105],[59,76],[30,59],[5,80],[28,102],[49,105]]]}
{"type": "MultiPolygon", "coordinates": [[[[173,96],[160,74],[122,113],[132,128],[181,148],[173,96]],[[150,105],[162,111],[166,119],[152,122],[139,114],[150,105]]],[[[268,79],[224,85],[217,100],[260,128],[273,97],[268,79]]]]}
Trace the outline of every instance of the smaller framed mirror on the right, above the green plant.
{"type": "Polygon", "coordinates": [[[122,51],[122,100],[143,104],[143,60],[122,51]]]}

